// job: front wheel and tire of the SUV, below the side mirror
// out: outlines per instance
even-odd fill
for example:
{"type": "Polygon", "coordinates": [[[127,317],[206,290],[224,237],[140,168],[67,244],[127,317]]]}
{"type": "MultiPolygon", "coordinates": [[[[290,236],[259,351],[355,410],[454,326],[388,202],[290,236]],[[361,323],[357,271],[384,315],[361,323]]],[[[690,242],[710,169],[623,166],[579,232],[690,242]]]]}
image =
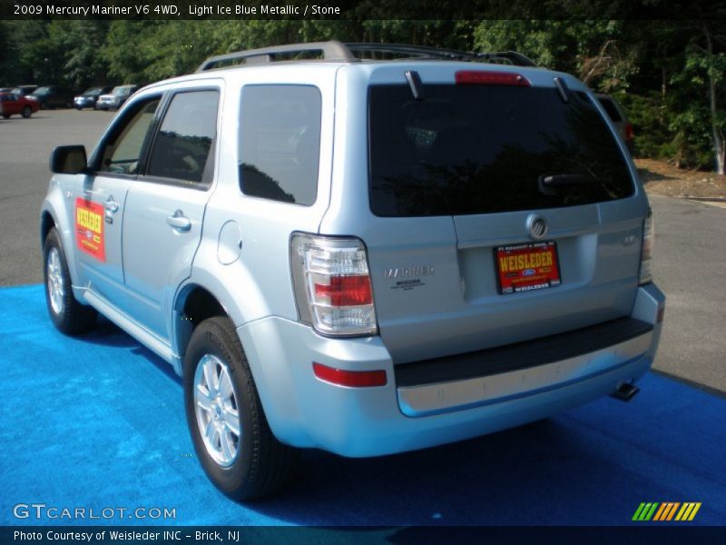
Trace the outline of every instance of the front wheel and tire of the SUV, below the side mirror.
{"type": "Polygon", "coordinates": [[[61,239],[55,228],[45,237],[43,273],[45,302],[54,326],[67,335],[91,331],[98,313],[76,301],[61,239]]]}

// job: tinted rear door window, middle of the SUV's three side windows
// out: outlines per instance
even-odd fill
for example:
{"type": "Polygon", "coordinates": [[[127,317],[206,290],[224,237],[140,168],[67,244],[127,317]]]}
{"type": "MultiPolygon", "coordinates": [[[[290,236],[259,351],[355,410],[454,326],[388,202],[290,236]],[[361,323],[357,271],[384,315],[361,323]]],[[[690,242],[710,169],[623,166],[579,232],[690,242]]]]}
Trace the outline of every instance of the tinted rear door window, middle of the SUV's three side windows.
{"type": "Polygon", "coordinates": [[[154,140],[148,175],[211,182],[210,154],[217,134],[219,102],[218,91],[191,91],[172,97],[154,140]]]}

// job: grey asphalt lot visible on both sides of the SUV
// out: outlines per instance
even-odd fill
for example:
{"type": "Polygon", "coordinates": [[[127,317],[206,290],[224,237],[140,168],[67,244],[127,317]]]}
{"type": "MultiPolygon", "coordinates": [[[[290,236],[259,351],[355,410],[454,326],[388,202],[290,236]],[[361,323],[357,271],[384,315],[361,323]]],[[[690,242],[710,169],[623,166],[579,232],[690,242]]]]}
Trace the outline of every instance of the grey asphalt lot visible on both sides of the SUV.
{"type": "MultiPolygon", "coordinates": [[[[42,281],[38,211],[56,145],[93,149],[113,113],[41,111],[0,119],[0,286],[42,281]]],[[[652,196],[654,277],[668,296],[654,368],[726,392],[726,209],[652,196]]]]}

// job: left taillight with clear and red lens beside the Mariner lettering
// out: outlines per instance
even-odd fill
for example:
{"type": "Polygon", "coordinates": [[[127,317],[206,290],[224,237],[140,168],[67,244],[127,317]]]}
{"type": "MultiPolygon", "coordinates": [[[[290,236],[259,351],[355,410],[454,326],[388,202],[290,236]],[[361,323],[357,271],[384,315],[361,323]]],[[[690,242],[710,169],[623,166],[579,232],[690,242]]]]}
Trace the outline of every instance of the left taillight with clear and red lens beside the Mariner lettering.
{"type": "Polygon", "coordinates": [[[327,335],[378,332],[368,255],[360,240],[296,233],[290,265],[301,322],[327,335]]]}

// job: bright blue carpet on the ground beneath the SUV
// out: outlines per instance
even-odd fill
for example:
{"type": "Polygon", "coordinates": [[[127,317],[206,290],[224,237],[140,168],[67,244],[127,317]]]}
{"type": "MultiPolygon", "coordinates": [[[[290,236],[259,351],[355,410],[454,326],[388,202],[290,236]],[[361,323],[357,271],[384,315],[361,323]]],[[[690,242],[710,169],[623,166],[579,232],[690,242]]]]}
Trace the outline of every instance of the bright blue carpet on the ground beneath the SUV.
{"type": "Polygon", "coordinates": [[[306,451],[287,494],[242,506],[201,471],[166,363],[109,322],[56,332],[41,286],[0,290],[0,311],[0,524],[74,523],[13,515],[44,503],[176,512],[78,524],[620,525],[642,501],[701,501],[689,524],[726,522],[726,399],[652,373],[630,403],[474,441],[369,460],[306,451]]]}

